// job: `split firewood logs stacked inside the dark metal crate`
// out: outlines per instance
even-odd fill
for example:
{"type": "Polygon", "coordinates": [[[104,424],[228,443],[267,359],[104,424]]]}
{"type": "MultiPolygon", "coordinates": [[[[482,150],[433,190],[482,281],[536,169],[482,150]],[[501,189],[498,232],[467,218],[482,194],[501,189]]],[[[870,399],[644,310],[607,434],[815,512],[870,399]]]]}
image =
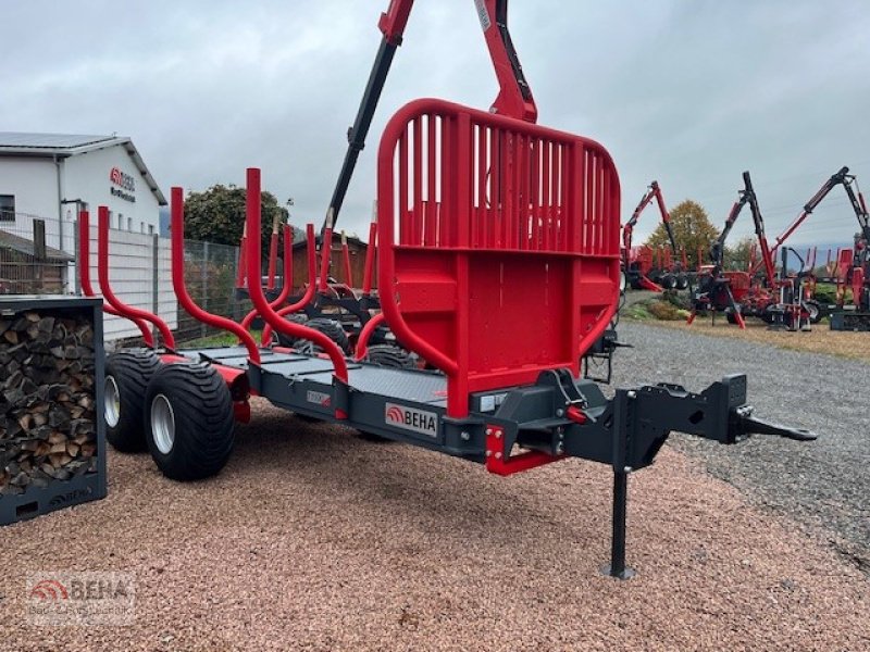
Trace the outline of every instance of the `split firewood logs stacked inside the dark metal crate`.
{"type": "Polygon", "coordinates": [[[2,494],[96,469],[94,328],[48,312],[0,316],[2,494]]]}

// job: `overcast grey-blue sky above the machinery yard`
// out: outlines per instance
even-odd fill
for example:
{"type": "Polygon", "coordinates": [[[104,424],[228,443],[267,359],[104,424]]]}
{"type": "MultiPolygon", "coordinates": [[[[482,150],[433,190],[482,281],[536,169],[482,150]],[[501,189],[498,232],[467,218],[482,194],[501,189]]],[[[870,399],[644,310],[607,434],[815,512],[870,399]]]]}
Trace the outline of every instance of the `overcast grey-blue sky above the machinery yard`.
{"type": "MultiPolygon", "coordinates": [[[[263,168],[295,221],[332,193],[387,0],[0,0],[0,130],[133,137],[163,187],[244,184],[263,168]]],[[[420,0],[340,226],[366,233],[374,153],[418,97],[496,96],[472,0],[420,0]]],[[[595,138],[620,171],[623,220],[658,179],[720,225],[749,170],[780,233],[842,165],[870,192],[870,2],[511,0],[543,125],[595,138]]],[[[651,211],[636,241],[652,229],[651,211]]],[[[750,231],[741,217],[734,239],[750,231]]],[[[795,243],[846,243],[835,190],[795,243]]]]}

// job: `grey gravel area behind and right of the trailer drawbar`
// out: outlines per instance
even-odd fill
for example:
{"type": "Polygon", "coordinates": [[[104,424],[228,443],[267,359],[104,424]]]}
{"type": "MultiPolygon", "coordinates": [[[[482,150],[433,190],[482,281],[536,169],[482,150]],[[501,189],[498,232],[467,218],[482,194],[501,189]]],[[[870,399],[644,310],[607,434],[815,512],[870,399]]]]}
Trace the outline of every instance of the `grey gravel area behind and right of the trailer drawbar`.
{"type": "Polygon", "coordinates": [[[761,436],[733,447],[685,436],[671,442],[870,573],[870,364],[626,321],[620,338],[635,348],[618,351],[616,384],[667,379],[699,391],[746,373],[756,415],[818,432],[812,443],[761,436]]]}

